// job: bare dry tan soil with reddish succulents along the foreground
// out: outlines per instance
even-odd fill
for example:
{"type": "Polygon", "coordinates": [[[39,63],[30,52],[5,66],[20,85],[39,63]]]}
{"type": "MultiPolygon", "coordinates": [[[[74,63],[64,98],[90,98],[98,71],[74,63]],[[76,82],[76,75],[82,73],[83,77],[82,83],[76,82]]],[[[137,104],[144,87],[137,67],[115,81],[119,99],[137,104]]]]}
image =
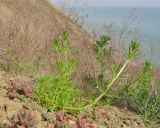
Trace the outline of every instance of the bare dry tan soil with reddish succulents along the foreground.
{"type": "Polygon", "coordinates": [[[136,114],[113,106],[97,107],[94,112],[86,110],[78,117],[63,111],[47,112],[30,96],[24,95],[23,88],[33,87],[34,81],[33,78],[0,72],[0,128],[13,126],[13,119],[18,119],[18,113],[24,109],[34,115],[32,128],[160,128],[160,125],[146,125],[136,114]]]}

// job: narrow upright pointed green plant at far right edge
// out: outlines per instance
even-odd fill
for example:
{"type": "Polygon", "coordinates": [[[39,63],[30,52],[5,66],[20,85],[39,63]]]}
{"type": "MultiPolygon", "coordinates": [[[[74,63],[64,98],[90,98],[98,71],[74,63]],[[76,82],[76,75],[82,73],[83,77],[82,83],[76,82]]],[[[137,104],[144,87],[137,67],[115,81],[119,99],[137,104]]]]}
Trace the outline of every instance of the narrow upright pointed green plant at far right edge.
{"type": "Polygon", "coordinates": [[[133,94],[137,111],[145,120],[160,120],[160,95],[156,86],[152,87],[153,84],[155,78],[152,65],[146,62],[133,94]]]}

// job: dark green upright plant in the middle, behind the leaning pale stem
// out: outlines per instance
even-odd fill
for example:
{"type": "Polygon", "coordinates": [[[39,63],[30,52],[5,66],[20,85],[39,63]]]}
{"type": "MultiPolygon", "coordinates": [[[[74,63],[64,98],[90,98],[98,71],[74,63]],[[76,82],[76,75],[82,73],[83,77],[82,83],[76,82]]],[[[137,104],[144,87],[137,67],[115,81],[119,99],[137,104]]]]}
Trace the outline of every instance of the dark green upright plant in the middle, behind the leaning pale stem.
{"type": "MultiPolygon", "coordinates": [[[[90,85],[96,87],[96,93],[100,94],[106,88],[107,82],[105,71],[109,66],[109,59],[112,57],[113,49],[108,47],[108,42],[110,40],[109,36],[101,36],[100,40],[93,44],[93,52],[95,58],[99,64],[98,75],[96,77],[90,74],[85,77],[85,80],[90,85]]],[[[93,92],[92,92],[93,93],[93,92]]]]}

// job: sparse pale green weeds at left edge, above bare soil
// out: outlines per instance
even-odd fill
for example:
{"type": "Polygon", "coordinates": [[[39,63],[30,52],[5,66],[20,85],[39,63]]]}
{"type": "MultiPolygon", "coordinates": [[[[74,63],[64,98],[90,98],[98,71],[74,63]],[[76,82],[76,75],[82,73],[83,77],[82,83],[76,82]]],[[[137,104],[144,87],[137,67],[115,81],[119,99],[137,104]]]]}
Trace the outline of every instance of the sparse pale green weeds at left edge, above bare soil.
{"type": "Polygon", "coordinates": [[[42,69],[44,69],[44,65],[40,57],[37,56],[35,60],[32,60],[32,63],[27,58],[19,60],[16,54],[9,49],[5,52],[5,57],[0,59],[0,70],[13,74],[25,74],[36,77],[37,72],[42,69]]]}

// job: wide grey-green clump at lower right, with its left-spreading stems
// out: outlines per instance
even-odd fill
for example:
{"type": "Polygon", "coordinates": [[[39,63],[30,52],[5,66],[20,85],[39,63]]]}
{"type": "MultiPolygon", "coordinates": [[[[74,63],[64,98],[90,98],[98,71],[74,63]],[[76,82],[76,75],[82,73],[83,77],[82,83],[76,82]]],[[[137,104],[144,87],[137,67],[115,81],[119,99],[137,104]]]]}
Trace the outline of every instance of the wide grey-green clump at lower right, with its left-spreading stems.
{"type": "Polygon", "coordinates": [[[119,93],[120,102],[127,100],[131,109],[146,121],[160,121],[160,94],[150,62],[146,61],[143,71],[136,80],[130,81],[119,93]]]}

